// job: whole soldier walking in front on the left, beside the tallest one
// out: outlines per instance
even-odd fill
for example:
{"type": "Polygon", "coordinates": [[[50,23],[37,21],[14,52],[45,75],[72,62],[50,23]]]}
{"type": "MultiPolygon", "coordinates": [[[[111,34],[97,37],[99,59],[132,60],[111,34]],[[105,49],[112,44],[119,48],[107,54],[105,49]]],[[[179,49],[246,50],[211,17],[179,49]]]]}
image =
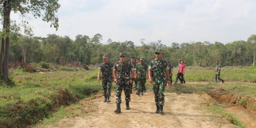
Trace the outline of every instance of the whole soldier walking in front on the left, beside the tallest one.
{"type": "Polygon", "coordinates": [[[129,85],[129,83],[132,83],[132,79],[134,76],[134,69],[132,67],[132,64],[126,61],[126,54],[120,53],[119,59],[120,61],[118,61],[114,65],[114,81],[116,82],[116,110],[114,111],[115,113],[121,112],[120,103],[122,103],[121,94],[123,88],[126,101],[125,109],[130,109],[129,102],[131,100],[131,86],[129,85]]]}

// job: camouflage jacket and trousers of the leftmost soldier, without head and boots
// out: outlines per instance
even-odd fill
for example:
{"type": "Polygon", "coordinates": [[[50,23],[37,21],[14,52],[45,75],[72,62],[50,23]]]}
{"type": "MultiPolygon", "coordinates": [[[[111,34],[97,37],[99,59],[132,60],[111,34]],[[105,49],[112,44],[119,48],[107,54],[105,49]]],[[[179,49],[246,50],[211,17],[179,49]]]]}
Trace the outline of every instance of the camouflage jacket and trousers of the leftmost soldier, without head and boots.
{"type": "Polygon", "coordinates": [[[110,97],[112,86],[112,69],[113,64],[110,62],[101,63],[99,70],[102,72],[102,86],[104,91],[104,97],[110,97]]]}

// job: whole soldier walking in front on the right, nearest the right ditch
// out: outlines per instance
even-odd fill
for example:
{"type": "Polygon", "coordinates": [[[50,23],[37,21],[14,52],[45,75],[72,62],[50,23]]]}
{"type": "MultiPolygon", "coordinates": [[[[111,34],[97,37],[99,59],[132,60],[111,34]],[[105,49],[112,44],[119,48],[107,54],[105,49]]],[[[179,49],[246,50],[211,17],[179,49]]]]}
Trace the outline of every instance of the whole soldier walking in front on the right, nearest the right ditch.
{"type": "Polygon", "coordinates": [[[167,75],[168,85],[170,86],[170,76],[168,64],[165,60],[162,60],[162,51],[156,49],[156,59],[152,60],[148,66],[149,81],[153,84],[153,90],[155,94],[156,113],[163,114],[163,105],[165,103],[165,73],[167,75]]]}

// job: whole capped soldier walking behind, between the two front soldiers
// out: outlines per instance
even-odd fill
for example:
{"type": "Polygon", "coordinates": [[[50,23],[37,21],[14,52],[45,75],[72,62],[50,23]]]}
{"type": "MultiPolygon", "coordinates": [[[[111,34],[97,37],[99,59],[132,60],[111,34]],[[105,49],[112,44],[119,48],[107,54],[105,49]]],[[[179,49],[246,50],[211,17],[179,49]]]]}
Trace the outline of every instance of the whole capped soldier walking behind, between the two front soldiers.
{"type": "Polygon", "coordinates": [[[144,58],[140,58],[140,62],[136,64],[134,69],[134,79],[137,80],[137,88],[138,92],[136,95],[143,95],[144,86],[146,83],[146,79],[148,79],[148,66],[144,63],[144,58]],[[147,76],[146,76],[147,74],[147,76]]]}

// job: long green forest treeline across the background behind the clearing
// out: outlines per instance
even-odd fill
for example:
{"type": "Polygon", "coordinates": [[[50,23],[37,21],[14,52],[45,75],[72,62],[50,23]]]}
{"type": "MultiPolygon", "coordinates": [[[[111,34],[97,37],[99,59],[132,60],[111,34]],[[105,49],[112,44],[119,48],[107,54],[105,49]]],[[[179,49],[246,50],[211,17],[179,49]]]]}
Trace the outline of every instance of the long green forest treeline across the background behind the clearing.
{"type": "Polygon", "coordinates": [[[160,40],[145,42],[136,46],[132,41],[102,44],[102,35],[93,37],[77,35],[75,40],[69,36],[61,37],[48,34],[47,37],[21,35],[10,40],[10,62],[68,64],[79,61],[86,65],[102,62],[102,56],[108,55],[111,62],[117,62],[120,52],[127,57],[145,58],[146,62],[155,58],[154,50],[163,50],[163,59],[169,60],[174,66],[178,59],[183,59],[187,66],[213,66],[219,60],[222,66],[252,66],[255,61],[256,35],[247,41],[239,40],[227,44],[221,42],[186,42],[163,45],[160,40]]]}

